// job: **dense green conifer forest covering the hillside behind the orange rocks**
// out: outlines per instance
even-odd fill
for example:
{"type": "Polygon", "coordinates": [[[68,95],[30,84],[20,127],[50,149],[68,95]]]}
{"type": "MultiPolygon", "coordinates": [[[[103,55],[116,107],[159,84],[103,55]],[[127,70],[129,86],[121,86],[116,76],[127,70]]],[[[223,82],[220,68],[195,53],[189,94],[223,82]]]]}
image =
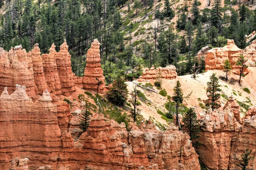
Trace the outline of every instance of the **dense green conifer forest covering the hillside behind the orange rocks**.
{"type": "Polygon", "coordinates": [[[245,35],[255,31],[256,10],[250,10],[253,0],[246,4],[224,0],[224,7],[221,7],[221,0],[214,0],[211,9],[200,9],[198,0],[191,1],[190,6],[190,1],[185,1],[180,8],[173,8],[174,2],[0,0],[0,46],[9,50],[21,44],[29,51],[38,43],[41,52],[47,53],[53,42],[58,51],[66,39],[73,72],[83,76],[85,54],[97,38],[101,42],[106,83],[110,84],[119,74],[128,80],[139,77],[140,65],[165,67],[173,64],[179,75],[203,72],[204,59],[195,57],[202,47],[208,44],[210,48],[222,47],[227,39],[233,39],[239,48],[245,48],[248,45],[245,35]],[[239,8],[235,10],[231,7],[234,5],[239,8]],[[151,36],[134,40],[145,34],[145,28],[138,28],[140,23],[134,19],[145,16],[147,22],[157,20],[157,26],[148,28],[151,36]],[[161,26],[163,22],[168,26],[161,26]]]}

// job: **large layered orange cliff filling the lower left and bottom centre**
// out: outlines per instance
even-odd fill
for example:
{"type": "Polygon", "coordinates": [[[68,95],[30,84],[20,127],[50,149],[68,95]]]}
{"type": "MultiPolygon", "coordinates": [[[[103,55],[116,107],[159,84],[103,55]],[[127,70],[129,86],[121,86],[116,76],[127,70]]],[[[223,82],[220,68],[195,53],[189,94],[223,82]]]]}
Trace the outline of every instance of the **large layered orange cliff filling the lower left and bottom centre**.
{"type": "Polygon", "coordinates": [[[149,121],[127,132],[124,123],[95,114],[88,130],[74,142],[65,126],[61,130],[58,104],[52,103],[51,96],[45,91],[33,102],[25,86],[17,85],[11,95],[4,89],[0,96],[0,169],[200,170],[189,136],[174,125],[159,132],[149,121]],[[23,162],[24,158],[29,160],[23,162]]]}

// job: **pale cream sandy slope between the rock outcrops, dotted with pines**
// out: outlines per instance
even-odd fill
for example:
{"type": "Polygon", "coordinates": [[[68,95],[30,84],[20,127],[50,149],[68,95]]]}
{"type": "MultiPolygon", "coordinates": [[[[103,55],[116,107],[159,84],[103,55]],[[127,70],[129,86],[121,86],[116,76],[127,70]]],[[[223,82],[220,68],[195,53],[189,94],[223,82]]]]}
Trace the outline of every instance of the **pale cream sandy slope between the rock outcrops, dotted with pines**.
{"type": "MultiPolygon", "coordinates": [[[[233,79],[235,82],[230,84],[229,82],[226,82],[224,80],[219,79],[219,84],[221,85],[221,94],[225,94],[227,97],[233,96],[235,99],[237,99],[240,102],[248,101],[248,99],[251,100],[251,104],[256,104],[256,68],[249,68],[250,73],[247,74],[246,77],[242,77],[242,85],[240,86],[238,84],[239,76],[235,74],[229,74],[228,78],[233,79]],[[243,91],[243,88],[249,88],[250,94],[247,94],[247,92],[243,91]],[[236,94],[234,94],[234,93],[236,94]],[[240,95],[241,96],[240,96],[240,95]]],[[[207,88],[207,82],[209,81],[209,77],[216,73],[217,77],[225,77],[225,73],[223,71],[207,71],[204,74],[198,74],[196,79],[192,79],[191,75],[186,76],[180,76],[173,80],[167,80],[162,79],[163,84],[162,88],[165,88],[168,95],[173,96],[173,88],[176,84],[176,81],[179,80],[182,85],[183,90],[183,96],[188,96],[191,92],[191,96],[188,99],[183,100],[183,104],[187,107],[197,107],[198,111],[204,111],[200,106],[199,103],[204,103],[208,98],[206,95],[206,88],[207,88]],[[201,101],[198,100],[198,98],[201,99],[201,101]]],[[[135,81],[134,81],[135,82],[135,81]]],[[[154,81],[150,81],[152,84],[154,84],[154,81]]],[[[145,82],[142,82],[145,84],[145,82]]],[[[129,92],[132,91],[134,83],[133,82],[127,82],[128,84],[128,90],[129,92]]],[[[157,113],[157,109],[160,111],[165,112],[166,109],[164,108],[164,104],[167,102],[167,97],[163,97],[160,94],[156,94],[154,92],[145,91],[142,88],[137,88],[138,90],[142,91],[143,94],[147,97],[147,99],[151,102],[151,105],[147,105],[143,102],[139,108],[142,110],[141,113],[145,119],[148,119],[150,116],[154,117],[158,122],[162,124],[166,124],[166,121],[161,119],[161,115],[157,113]]],[[[156,89],[156,88],[155,88],[156,89]]],[[[157,90],[156,90],[157,91],[157,90]]],[[[221,97],[221,108],[226,104],[227,100],[221,97]]],[[[246,103],[247,105],[250,105],[249,103],[246,103]]],[[[220,109],[221,109],[220,108],[220,109]]]]}

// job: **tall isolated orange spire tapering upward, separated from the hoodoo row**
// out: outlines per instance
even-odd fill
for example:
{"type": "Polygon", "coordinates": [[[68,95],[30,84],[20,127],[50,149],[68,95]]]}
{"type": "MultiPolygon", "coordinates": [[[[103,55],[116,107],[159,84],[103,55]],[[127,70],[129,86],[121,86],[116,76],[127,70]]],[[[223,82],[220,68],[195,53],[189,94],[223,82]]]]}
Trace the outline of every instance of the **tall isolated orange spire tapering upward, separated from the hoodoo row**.
{"type": "Polygon", "coordinates": [[[102,82],[102,84],[99,85],[99,93],[104,93],[105,77],[103,76],[103,70],[100,64],[99,45],[99,41],[95,39],[92,42],[91,48],[87,51],[87,63],[84,69],[83,84],[85,90],[96,91],[99,80],[102,82]],[[98,80],[96,80],[96,78],[98,80]]]}

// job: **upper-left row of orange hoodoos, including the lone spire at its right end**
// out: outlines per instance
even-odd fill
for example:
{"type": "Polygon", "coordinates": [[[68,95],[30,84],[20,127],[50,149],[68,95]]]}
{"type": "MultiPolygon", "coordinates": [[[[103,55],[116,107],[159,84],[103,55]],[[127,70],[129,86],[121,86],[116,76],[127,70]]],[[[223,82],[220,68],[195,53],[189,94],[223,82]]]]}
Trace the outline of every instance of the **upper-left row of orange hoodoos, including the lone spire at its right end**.
{"type": "Polygon", "coordinates": [[[8,87],[9,94],[12,94],[16,84],[19,84],[26,86],[28,96],[42,95],[46,89],[51,94],[70,96],[76,86],[96,91],[98,80],[102,82],[99,93],[104,93],[105,77],[100,64],[99,45],[98,40],[94,40],[87,52],[84,77],[76,77],[72,72],[66,40],[59,52],[55,51],[53,43],[49,54],[42,55],[38,44],[28,53],[21,45],[11,48],[9,52],[0,48],[0,93],[8,87]]]}

